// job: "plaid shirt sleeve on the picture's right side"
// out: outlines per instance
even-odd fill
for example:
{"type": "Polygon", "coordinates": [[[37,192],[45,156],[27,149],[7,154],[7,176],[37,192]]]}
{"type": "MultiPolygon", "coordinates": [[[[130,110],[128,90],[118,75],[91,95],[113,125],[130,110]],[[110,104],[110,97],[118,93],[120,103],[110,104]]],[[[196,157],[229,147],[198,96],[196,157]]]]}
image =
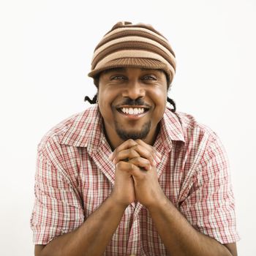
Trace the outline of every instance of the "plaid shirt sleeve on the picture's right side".
{"type": "Polygon", "coordinates": [[[203,154],[193,177],[189,195],[181,203],[181,213],[200,233],[221,244],[235,243],[235,200],[229,163],[219,138],[214,138],[203,154]]]}

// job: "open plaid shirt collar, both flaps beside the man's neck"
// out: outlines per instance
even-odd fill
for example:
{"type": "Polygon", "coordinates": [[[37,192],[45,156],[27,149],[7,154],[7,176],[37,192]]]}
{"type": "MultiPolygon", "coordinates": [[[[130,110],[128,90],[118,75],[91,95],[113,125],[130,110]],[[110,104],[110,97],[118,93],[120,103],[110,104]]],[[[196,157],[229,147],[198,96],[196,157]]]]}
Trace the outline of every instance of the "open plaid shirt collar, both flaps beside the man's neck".
{"type": "MultiPolygon", "coordinates": [[[[98,106],[95,105],[75,116],[60,143],[67,146],[86,147],[89,152],[97,151],[102,140],[106,140],[102,124],[102,116],[98,106]]],[[[160,121],[160,131],[156,142],[170,151],[172,140],[184,142],[184,135],[178,116],[166,108],[160,121]]]]}

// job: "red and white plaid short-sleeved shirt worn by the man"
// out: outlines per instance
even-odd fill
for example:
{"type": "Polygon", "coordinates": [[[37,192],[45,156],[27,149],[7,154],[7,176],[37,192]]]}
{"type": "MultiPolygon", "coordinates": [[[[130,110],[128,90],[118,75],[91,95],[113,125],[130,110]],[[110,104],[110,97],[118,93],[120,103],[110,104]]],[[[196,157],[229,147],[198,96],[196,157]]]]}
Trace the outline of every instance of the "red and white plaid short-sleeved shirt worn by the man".
{"type": "MultiPolygon", "coordinates": [[[[196,230],[222,244],[238,241],[233,191],[225,150],[217,135],[195,118],[166,109],[154,147],[165,195],[196,230]]],[[[75,230],[110,195],[115,168],[97,106],[62,121],[38,146],[34,244],[48,244],[75,230]]],[[[167,255],[148,210],[124,211],[105,255],[167,255]]]]}

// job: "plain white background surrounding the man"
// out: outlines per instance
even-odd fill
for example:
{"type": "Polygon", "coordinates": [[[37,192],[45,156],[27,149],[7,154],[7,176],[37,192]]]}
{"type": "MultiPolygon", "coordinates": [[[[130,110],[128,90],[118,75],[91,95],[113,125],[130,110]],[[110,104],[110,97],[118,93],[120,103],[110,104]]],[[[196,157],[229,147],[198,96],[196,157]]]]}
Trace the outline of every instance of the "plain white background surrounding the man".
{"type": "Polygon", "coordinates": [[[256,2],[1,1],[0,255],[33,255],[37,143],[89,105],[99,39],[119,20],[151,23],[176,52],[170,97],[219,135],[232,167],[239,255],[255,256],[256,2]]]}

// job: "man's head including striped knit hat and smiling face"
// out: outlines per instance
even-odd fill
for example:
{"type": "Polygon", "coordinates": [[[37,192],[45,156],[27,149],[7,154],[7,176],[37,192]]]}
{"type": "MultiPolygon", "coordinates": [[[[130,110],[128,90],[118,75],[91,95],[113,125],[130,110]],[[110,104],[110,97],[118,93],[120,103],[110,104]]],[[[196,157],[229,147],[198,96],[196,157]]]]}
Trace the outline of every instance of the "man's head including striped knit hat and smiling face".
{"type": "Polygon", "coordinates": [[[175,71],[173,50],[151,26],[117,23],[105,34],[89,76],[113,147],[129,138],[154,142],[175,71]]]}

